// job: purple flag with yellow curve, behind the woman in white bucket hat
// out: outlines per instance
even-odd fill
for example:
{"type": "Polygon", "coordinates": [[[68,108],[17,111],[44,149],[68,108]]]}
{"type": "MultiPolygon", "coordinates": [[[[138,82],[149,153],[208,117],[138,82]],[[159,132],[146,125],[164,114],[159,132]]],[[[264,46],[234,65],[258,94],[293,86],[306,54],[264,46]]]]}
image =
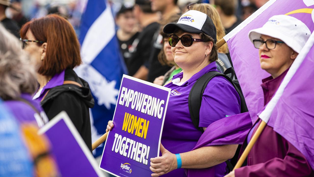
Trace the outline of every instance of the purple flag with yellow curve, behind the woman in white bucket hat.
{"type": "Polygon", "coordinates": [[[262,70],[259,63],[258,49],[255,49],[248,38],[248,32],[262,27],[273,15],[286,14],[293,16],[312,32],[314,30],[314,1],[312,0],[270,0],[248,19],[224,37],[228,43],[234,69],[239,79],[246,105],[252,122],[258,111],[263,110],[262,79],[270,76],[262,70]]]}

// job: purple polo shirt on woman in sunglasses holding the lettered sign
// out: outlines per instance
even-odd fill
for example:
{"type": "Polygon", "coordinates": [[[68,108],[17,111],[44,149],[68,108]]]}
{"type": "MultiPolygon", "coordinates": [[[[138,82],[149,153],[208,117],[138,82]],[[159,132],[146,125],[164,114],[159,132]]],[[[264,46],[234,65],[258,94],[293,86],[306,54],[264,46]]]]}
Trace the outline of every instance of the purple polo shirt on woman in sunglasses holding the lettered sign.
{"type": "MultiPolygon", "coordinates": [[[[202,132],[192,123],[188,108],[188,96],[197,79],[209,71],[218,71],[216,63],[210,63],[201,71],[194,74],[181,86],[175,83],[165,85],[171,88],[168,109],[165,117],[162,145],[171,153],[191,151],[202,132]]],[[[172,80],[183,77],[183,73],[176,74],[172,80]]],[[[211,123],[226,116],[240,113],[240,97],[235,88],[224,77],[212,78],[204,90],[199,113],[199,127],[208,127],[211,123]]],[[[184,169],[176,169],[163,176],[186,176],[184,169]]]]}

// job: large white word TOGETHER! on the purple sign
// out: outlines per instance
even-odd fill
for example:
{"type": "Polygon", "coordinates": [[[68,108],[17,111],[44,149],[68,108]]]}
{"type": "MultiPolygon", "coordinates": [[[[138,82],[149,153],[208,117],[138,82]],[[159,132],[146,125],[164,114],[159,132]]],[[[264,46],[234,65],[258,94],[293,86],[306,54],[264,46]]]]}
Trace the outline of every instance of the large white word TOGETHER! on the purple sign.
{"type": "Polygon", "coordinates": [[[139,163],[143,162],[143,164],[147,165],[149,149],[150,146],[146,146],[127,137],[122,138],[121,135],[116,133],[111,151],[119,152],[124,157],[133,159],[139,163]]]}

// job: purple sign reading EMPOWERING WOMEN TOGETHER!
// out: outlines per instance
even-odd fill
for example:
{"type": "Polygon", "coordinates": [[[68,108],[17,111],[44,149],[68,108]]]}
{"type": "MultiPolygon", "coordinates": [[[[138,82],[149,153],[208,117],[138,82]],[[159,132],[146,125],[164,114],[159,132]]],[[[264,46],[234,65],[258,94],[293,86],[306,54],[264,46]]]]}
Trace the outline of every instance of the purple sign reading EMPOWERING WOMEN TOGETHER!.
{"type": "Polygon", "coordinates": [[[171,89],[123,75],[100,169],[115,176],[150,176],[150,158],[159,156],[171,89]]]}

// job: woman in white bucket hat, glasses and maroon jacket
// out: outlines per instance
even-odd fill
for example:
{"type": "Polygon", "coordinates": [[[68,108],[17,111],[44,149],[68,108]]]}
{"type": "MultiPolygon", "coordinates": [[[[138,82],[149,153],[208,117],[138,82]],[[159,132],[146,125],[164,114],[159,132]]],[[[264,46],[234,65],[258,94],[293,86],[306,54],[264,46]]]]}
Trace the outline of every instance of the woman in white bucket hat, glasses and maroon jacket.
{"type": "MultiPolygon", "coordinates": [[[[259,49],[261,68],[271,75],[263,79],[261,85],[264,105],[275,94],[310,35],[311,31],[303,22],[288,15],[275,15],[263,27],[249,32],[251,42],[259,49]]],[[[261,122],[258,118],[253,124],[240,154],[261,122]]],[[[266,125],[252,147],[246,163],[246,166],[236,169],[226,177],[314,176],[306,157],[269,125],[266,125]]]]}

